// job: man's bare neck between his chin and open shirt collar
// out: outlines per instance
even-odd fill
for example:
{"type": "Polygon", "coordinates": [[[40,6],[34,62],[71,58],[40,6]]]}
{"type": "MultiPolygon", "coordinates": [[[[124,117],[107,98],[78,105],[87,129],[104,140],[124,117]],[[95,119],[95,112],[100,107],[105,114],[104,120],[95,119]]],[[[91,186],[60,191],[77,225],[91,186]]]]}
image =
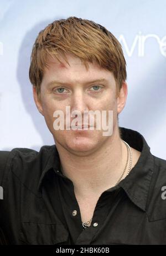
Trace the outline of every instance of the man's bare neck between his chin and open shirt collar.
{"type": "Polygon", "coordinates": [[[86,157],[74,155],[56,143],[63,174],[71,179],[80,197],[98,195],[113,187],[121,177],[127,160],[127,148],[118,128],[96,152],[86,157]]]}

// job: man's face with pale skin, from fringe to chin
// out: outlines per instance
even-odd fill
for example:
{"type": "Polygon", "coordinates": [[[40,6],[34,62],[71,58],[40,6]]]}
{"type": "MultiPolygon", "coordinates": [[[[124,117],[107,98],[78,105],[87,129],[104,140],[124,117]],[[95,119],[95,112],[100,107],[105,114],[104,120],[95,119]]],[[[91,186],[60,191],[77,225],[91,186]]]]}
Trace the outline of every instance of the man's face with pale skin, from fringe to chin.
{"type": "MultiPolygon", "coordinates": [[[[113,129],[117,126],[117,113],[123,106],[117,103],[116,81],[113,73],[97,65],[89,63],[87,71],[79,58],[67,55],[70,66],[63,61],[50,58],[49,67],[45,69],[40,87],[40,101],[34,89],[34,98],[40,113],[43,114],[46,124],[53,134],[55,144],[77,155],[86,155],[99,149],[110,136],[103,136],[103,130],[55,130],[53,123],[55,111],[63,111],[66,115],[66,106],[70,112],[80,111],[113,111],[113,129]],[[93,82],[98,79],[103,81],[93,82]],[[58,82],[55,82],[58,81],[58,82]]],[[[122,104],[121,104],[122,105],[122,104]]],[[[108,116],[107,116],[108,117],[108,116]]],[[[72,121],[74,117],[70,118],[72,121]]],[[[64,119],[65,120],[65,119],[64,119]]],[[[95,118],[95,127],[96,127],[95,118]]],[[[108,122],[107,122],[108,124],[108,122]]]]}

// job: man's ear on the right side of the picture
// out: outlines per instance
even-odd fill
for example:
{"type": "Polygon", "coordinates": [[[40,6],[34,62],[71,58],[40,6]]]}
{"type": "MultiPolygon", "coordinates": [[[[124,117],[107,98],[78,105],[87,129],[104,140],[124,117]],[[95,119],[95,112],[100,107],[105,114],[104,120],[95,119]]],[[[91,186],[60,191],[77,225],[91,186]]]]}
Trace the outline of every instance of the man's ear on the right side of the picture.
{"type": "Polygon", "coordinates": [[[120,89],[120,93],[117,97],[117,113],[121,113],[123,108],[125,107],[126,100],[127,100],[128,88],[127,83],[122,83],[122,88],[120,89]]]}

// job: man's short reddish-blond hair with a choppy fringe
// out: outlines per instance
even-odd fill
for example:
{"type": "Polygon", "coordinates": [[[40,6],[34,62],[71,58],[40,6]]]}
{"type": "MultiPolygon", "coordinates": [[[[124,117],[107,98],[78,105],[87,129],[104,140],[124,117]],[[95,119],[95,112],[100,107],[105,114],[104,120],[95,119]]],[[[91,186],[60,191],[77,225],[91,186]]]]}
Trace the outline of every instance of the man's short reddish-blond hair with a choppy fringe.
{"type": "Polygon", "coordinates": [[[39,32],[35,40],[29,68],[29,79],[40,93],[44,68],[48,66],[48,56],[63,57],[65,53],[79,57],[86,69],[88,62],[96,62],[101,68],[113,72],[119,93],[126,81],[126,61],[120,42],[105,27],[88,19],[69,17],[50,23],[39,32]]]}

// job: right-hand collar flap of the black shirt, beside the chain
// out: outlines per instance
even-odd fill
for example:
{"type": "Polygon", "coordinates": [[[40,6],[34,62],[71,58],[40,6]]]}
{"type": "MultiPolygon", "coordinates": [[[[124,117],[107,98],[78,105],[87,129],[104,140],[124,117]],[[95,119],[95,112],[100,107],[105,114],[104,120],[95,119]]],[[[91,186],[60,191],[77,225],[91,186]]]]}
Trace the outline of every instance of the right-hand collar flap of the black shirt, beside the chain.
{"type": "Polygon", "coordinates": [[[134,204],[146,211],[148,192],[154,171],[154,158],[143,135],[136,130],[127,128],[121,127],[120,130],[121,138],[132,148],[140,151],[141,155],[131,172],[118,186],[125,190],[134,204]]]}

